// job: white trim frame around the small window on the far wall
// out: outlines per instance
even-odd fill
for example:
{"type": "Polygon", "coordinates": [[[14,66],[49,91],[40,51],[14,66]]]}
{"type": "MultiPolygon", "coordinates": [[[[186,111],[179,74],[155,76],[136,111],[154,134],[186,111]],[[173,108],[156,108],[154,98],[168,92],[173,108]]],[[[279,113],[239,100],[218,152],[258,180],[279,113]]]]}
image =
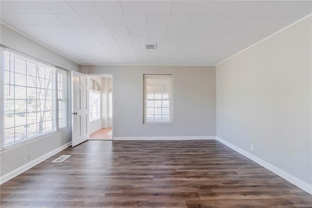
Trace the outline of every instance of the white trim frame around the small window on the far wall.
{"type": "MultiPolygon", "coordinates": [[[[162,99],[160,99],[162,100],[162,99]]],[[[174,116],[173,116],[173,74],[143,74],[143,125],[173,125],[174,124],[174,116]],[[171,99],[169,99],[170,105],[169,105],[169,116],[170,116],[170,121],[169,122],[145,122],[146,119],[146,104],[145,104],[145,77],[170,77],[171,78],[171,86],[170,86],[170,91],[171,91],[171,99]]]]}

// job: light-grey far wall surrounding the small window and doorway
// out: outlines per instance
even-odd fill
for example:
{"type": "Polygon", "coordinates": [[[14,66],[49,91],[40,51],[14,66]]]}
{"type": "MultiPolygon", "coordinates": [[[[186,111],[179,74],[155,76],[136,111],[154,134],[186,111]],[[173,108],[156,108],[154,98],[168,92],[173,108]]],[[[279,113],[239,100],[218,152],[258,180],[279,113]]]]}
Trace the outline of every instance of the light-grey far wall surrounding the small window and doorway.
{"type": "Polygon", "coordinates": [[[214,66],[81,66],[112,74],[115,137],[215,136],[214,66]],[[143,74],[173,74],[173,125],[143,125],[143,74]]]}

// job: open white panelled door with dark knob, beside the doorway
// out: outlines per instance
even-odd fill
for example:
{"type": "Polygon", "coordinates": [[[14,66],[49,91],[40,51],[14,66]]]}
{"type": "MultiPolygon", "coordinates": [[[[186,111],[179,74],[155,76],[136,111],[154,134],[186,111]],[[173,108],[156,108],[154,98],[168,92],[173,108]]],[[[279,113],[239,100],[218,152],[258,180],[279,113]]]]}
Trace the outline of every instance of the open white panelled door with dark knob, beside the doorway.
{"type": "Polygon", "coordinates": [[[72,146],[89,139],[89,76],[72,71],[72,146]]]}

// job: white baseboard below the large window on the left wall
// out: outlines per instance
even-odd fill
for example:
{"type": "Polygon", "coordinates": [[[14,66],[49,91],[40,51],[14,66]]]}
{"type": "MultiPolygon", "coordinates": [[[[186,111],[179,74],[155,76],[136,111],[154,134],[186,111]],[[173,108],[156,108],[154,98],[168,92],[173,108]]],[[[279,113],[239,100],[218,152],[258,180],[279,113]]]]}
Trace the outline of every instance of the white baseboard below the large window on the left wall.
{"type": "Polygon", "coordinates": [[[23,166],[20,166],[19,168],[3,175],[2,177],[0,177],[0,184],[3,184],[9,180],[11,180],[12,178],[20,175],[21,173],[25,172],[26,170],[32,168],[33,166],[37,166],[39,163],[43,162],[44,160],[48,159],[49,157],[52,157],[53,155],[57,154],[58,152],[62,151],[63,149],[66,149],[68,146],[71,146],[72,142],[69,142],[63,146],[60,146],[59,148],[56,148],[48,153],[46,153],[45,155],[42,155],[41,157],[26,163],[23,166]]]}

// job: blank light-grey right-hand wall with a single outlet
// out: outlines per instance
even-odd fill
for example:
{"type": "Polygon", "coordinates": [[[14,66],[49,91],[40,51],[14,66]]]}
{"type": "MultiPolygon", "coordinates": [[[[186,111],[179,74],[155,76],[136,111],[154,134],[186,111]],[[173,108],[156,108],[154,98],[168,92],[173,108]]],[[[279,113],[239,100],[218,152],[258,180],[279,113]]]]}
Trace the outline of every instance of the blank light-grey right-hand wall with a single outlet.
{"type": "Polygon", "coordinates": [[[216,66],[217,136],[310,186],[311,25],[310,17],[216,66]]]}

